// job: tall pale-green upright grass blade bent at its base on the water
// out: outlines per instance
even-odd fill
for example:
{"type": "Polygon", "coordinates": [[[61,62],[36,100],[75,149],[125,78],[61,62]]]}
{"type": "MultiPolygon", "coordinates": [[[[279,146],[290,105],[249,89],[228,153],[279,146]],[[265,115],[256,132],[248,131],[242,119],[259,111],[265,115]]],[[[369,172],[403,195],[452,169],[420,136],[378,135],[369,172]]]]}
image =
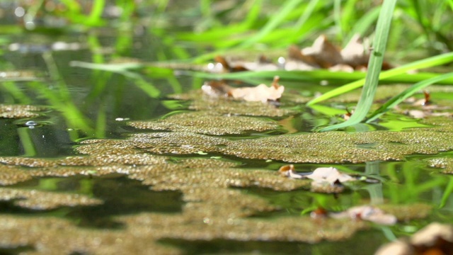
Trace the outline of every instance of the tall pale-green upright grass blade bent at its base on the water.
{"type": "Polygon", "coordinates": [[[336,130],[338,128],[345,128],[350,125],[355,125],[362,121],[371,108],[374,94],[376,94],[377,85],[379,84],[379,74],[382,69],[382,62],[384,62],[384,52],[386,49],[387,38],[389,37],[389,30],[391,25],[391,18],[394,13],[396,0],[386,0],[382,4],[381,13],[377,21],[376,33],[374,35],[373,47],[371,56],[369,57],[367,77],[365,77],[365,86],[363,87],[362,95],[357,103],[355,112],[351,115],[350,119],[344,123],[332,125],[323,128],[320,131],[336,130]]]}

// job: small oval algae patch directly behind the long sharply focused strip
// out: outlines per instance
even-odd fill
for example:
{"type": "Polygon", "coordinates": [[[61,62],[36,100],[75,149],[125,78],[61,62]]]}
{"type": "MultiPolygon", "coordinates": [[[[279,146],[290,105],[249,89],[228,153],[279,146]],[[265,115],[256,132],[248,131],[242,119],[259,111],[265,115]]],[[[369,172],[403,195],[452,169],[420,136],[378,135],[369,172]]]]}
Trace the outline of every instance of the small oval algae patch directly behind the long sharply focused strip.
{"type": "Polygon", "coordinates": [[[206,135],[242,134],[252,130],[262,132],[279,128],[273,120],[218,115],[210,111],[179,113],[162,120],[133,121],[129,125],[141,129],[196,132],[206,135]]]}

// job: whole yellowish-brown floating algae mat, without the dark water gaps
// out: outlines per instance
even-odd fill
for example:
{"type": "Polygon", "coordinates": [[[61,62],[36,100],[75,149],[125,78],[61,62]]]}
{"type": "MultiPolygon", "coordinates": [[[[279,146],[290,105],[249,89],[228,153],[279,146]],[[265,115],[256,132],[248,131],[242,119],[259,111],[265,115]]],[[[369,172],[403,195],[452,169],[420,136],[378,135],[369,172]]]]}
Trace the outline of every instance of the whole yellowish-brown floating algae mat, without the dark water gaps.
{"type": "MultiPolygon", "coordinates": [[[[277,171],[245,169],[239,162],[207,157],[224,155],[229,159],[237,157],[263,162],[272,159],[289,163],[332,164],[403,160],[408,154],[436,154],[453,149],[451,118],[428,118],[423,123],[436,125],[435,128],[402,132],[218,137],[248,131],[279,130],[281,126],[275,120],[251,116],[292,118],[292,111],[261,102],[238,102],[224,98],[213,100],[197,93],[190,95],[186,95],[193,100],[190,108],[197,111],[175,113],[161,120],[130,123],[136,128],[151,129],[153,132],[132,134],[123,140],[86,140],[74,148],[80,155],[71,157],[0,157],[2,185],[42,176],[124,174],[127,178],[142,181],[154,191],[180,191],[184,203],[181,212],[113,216],[111,220],[125,227],[112,231],[83,229],[52,217],[28,219],[2,215],[0,231],[4,234],[0,235],[0,246],[32,246],[38,254],[181,254],[183,251],[163,246],[159,240],[343,240],[369,227],[369,222],[350,218],[312,219],[299,215],[266,217],[270,212],[280,210],[279,204],[248,193],[246,189],[256,187],[275,193],[297,191],[310,194],[307,195],[309,198],[312,195],[311,180],[287,179],[277,171]],[[253,217],[256,215],[260,217],[253,217]],[[36,229],[47,230],[42,234],[36,229]]],[[[447,169],[452,164],[447,161],[441,163],[432,165],[442,165],[447,169]]],[[[337,193],[342,190],[342,187],[326,186],[314,191],[337,193]]],[[[76,194],[21,188],[0,188],[0,200],[10,200],[17,206],[32,209],[91,206],[103,202],[76,194]]],[[[294,200],[291,203],[295,203],[294,200]]],[[[300,206],[306,208],[313,203],[316,202],[304,201],[300,206]]],[[[423,204],[379,205],[379,208],[401,221],[427,217],[432,209],[423,204]]]]}

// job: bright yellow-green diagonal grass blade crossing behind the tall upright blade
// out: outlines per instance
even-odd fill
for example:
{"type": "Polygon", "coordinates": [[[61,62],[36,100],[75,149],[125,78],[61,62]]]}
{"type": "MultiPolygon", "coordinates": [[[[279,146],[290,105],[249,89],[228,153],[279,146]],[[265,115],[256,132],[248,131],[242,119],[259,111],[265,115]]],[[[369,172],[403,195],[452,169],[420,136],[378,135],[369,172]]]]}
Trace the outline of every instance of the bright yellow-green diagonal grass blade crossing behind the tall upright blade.
{"type": "MultiPolygon", "coordinates": [[[[404,64],[401,67],[396,67],[394,69],[390,69],[388,71],[382,72],[381,75],[379,75],[379,79],[388,79],[391,77],[395,77],[396,75],[400,74],[405,74],[408,71],[414,70],[414,69],[423,69],[427,67],[435,67],[439,66],[441,64],[446,64],[449,62],[453,62],[453,52],[445,53],[442,55],[437,55],[434,57],[428,57],[423,60],[418,60],[415,62],[411,62],[409,64],[404,64]]],[[[358,89],[360,88],[363,84],[365,84],[365,79],[360,79],[358,81],[353,81],[349,84],[345,84],[343,86],[340,86],[337,89],[333,89],[331,91],[328,91],[326,94],[323,94],[317,98],[314,98],[313,100],[309,101],[306,103],[307,106],[310,106],[314,103],[319,103],[321,101],[325,101],[328,98],[333,98],[334,96],[338,96],[341,94],[345,94],[349,91],[352,91],[353,89],[358,89]]]]}

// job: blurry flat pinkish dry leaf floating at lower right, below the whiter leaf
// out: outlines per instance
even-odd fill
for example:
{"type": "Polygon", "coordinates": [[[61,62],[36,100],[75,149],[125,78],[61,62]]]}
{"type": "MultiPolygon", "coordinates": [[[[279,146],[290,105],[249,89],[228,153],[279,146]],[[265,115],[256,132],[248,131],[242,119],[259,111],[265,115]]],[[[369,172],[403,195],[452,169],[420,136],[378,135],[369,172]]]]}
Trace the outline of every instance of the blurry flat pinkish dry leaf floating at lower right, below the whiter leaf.
{"type": "Polygon", "coordinates": [[[329,216],[335,218],[350,217],[354,220],[367,220],[382,225],[395,225],[397,222],[395,215],[388,214],[371,205],[355,206],[344,212],[331,213],[329,216]]]}

